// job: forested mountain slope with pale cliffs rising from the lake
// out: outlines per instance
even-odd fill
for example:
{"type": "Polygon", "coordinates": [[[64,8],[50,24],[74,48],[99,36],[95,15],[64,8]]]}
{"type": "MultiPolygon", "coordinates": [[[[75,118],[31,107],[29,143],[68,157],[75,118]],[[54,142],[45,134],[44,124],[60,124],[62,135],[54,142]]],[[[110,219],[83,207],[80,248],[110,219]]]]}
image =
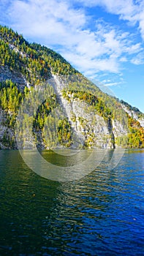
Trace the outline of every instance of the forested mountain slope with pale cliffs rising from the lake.
{"type": "Polygon", "coordinates": [[[143,148],[144,114],[0,26],[0,148],[143,148]]]}

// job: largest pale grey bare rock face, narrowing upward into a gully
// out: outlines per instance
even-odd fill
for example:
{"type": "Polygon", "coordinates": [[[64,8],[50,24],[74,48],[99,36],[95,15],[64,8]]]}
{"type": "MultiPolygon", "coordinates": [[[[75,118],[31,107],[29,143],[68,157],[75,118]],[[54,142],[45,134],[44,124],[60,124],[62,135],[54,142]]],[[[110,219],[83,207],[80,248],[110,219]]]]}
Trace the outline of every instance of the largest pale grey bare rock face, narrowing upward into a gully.
{"type": "Polygon", "coordinates": [[[65,99],[62,94],[65,88],[64,80],[57,75],[52,75],[52,79],[48,82],[53,86],[64,115],[67,116],[75,135],[83,146],[115,148],[117,146],[115,138],[127,134],[123,124],[116,120],[112,121],[110,118],[105,120],[86,102],[73,98],[73,94],[69,94],[69,100],[65,99]]]}

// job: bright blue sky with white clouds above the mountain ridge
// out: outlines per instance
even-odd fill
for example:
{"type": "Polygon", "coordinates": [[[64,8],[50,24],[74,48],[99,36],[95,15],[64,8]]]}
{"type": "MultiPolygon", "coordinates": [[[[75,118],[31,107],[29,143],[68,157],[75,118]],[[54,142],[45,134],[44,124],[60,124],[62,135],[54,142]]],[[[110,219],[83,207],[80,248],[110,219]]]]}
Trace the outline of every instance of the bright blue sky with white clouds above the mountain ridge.
{"type": "Polygon", "coordinates": [[[144,113],[144,0],[2,0],[0,23],[144,113]]]}

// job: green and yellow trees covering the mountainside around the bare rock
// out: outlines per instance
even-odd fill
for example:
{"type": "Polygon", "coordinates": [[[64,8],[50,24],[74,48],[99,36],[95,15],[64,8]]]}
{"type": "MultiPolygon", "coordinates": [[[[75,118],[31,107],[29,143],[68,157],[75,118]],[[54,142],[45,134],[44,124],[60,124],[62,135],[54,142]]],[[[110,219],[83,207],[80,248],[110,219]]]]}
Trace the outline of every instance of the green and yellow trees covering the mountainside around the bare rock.
{"type": "MultiPolygon", "coordinates": [[[[102,92],[94,83],[77,72],[60,54],[45,46],[27,42],[22,35],[5,26],[0,26],[0,67],[18,72],[29,84],[22,89],[20,84],[15,83],[11,78],[0,80],[0,108],[6,115],[2,125],[7,129],[14,130],[16,116],[24,99],[30,95],[32,104],[36,104],[34,90],[37,86],[42,86],[53,75],[61,75],[61,83],[64,83],[63,89],[61,89],[62,97],[69,104],[72,104],[74,100],[78,100],[79,104],[85,102],[92,111],[95,111],[94,113],[102,116],[114,147],[117,144],[130,148],[144,148],[143,127],[133,117],[126,114],[121,103],[137,113],[138,117],[143,118],[143,113],[140,113],[140,110],[102,92]],[[114,131],[113,122],[117,126],[115,129],[118,129],[118,125],[122,126],[125,134],[118,135],[118,131],[117,133],[114,131]]],[[[73,124],[76,122],[75,113],[71,120],[62,114],[56,118],[52,112],[54,109],[58,109],[61,113],[60,99],[58,99],[53,86],[49,85],[45,94],[47,95],[45,101],[39,106],[32,119],[35,140],[42,140],[41,143],[47,148],[56,145],[72,146],[72,122],[73,124]]],[[[28,127],[31,119],[29,114],[26,115],[25,124],[23,124],[25,128],[28,127]]],[[[83,116],[80,116],[80,120],[83,120],[83,116]]],[[[82,121],[79,121],[79,124],[82,124],[82,121]]],[[[26,131],[26,129],[21,130],[21,132],[26,131]]],[[[4,143],[5,146],[10,143],[11,147],[15,147],[14,140],[14,135],[10,136],[10,133],[6,131],[0,138],[1,143],[4,143]]],[[[86,138],[85,146],[87,147],[91,146],[91,141],[88,141],[90,141],[90,137],[86,138]]]]}

